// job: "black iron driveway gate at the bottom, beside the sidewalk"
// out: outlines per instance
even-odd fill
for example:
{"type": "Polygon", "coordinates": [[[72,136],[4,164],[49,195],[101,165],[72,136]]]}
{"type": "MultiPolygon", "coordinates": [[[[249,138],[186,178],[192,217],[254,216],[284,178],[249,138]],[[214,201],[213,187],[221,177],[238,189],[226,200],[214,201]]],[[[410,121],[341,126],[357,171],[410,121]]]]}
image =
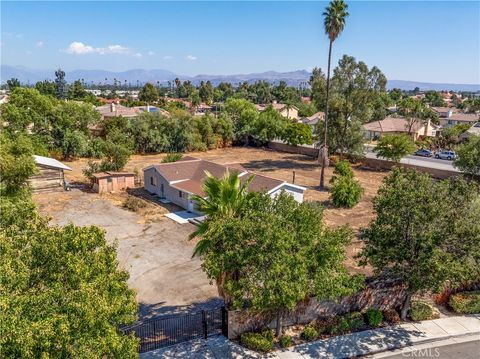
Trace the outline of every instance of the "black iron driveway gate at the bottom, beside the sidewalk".
{"type": "Polygon", "coordinates": [[[158,317],[122,328],[125,334],[134,333],[140,339],[140,353],[186,342],[207,339],[227,333],[225,307],[202,310],[193,314],[158,317]]]}

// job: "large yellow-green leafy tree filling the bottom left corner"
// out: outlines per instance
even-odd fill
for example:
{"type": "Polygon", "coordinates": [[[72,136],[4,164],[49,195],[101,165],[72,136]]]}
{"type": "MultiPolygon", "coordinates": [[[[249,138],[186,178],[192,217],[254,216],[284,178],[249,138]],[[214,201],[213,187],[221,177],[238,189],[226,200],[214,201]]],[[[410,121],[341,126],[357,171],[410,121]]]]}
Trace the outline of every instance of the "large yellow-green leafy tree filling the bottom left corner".
{"type": "Polygon", "coordinates": [[[104,231],[50,226],[31,200],[3,201],[0,356],[137,357],[118,329],[136,319],[135,294],[104,231]]]}

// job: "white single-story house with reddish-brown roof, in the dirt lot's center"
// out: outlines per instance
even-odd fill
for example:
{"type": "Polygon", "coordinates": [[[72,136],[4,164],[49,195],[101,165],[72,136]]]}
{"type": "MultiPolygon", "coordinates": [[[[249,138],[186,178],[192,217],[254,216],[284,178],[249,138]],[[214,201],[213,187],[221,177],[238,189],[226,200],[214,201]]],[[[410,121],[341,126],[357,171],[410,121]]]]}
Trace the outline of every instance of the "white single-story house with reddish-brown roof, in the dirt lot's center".
{"type": "MultiPolygon", "coordinates": [[[[220,178],[227,172],[233,171],[239,172],[242,181],[246,181],[253,175],[239,164],[221,165],[186,156],[177,162],[146,167],[143,170],[144,187],[148,192],[156,194],[160,198],[173,202],[190,212],[198,213],[192,196],[205,197],[203,181],[207,177],[207,172],[220,178]]],[[[253,176],[252,183],[248,188],[250,191],[265,191],[270,196],[276,196],[284,190],[291,194],[297,202],[303,202],[306,188],[260,174],[253,176]]]]}

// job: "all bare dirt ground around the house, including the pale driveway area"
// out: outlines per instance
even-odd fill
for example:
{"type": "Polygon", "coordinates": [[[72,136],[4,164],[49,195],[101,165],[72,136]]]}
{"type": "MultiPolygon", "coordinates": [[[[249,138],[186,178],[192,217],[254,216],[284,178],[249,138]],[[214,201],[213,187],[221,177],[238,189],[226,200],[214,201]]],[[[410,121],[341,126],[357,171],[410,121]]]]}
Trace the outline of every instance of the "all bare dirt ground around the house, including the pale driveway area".
{"type": "MultiPolygon", "coordinates": [[[[365,189],[365,195],[354,208],[338,209],[330,205],[328,192],[318,190],[320,170],[317,162],[308,156],[241,147],[189,155],[218,163],[240,163],[253,173],[289,182],[295,171],[295,183],[307,188],[305,200],[320,201],[325,206],[326,224],[331,227],[348,224],[357,233],[374,218],[372,198],[386,175],[386,172],[354,167],[355,177],[365,189]]],[[[132,156],[126,170],[136,169],[141,175],[144,167],[159,163],[164,156],[132,156]]],[[[69,181],[85,182],[82,170],[87,160],[66,164],[72,168],[66,173],[69,181]]],[[[332,173],[333,168],[327,168],[326,183],[332,173]]],[[[191,259],[195,243],[189,241],[188,236],[194,227],[179,225],[164,217],[165,213],[179,208],[147,201],[145,208],[130,212],[122,208],[127,196],[125,192],[99,195],[74,189],[37,194],[34,198],[40,211],[51,216],[53,223],[98,225],[106,230],[109,241],[117,240],[118,260],[130,272],[129,283],[137,291],[143,317],[216,305],[215,286],[209,284],[200,261],[191,259]]],[[[346,265],[352,272],[369,273],[368,269],[358,267],[353,259],[360,249],[361,242],[354,240],[347,249],[346,265]]]]}

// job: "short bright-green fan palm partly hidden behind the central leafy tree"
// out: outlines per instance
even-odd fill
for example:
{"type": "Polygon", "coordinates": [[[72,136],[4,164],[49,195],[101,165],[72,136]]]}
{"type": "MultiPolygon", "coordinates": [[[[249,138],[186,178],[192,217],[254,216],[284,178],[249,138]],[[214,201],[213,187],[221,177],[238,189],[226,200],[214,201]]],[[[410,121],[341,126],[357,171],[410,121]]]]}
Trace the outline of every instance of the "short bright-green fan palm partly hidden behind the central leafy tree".
{"type": "MultiPolygon", "coordinates": [[[[241,215],[242,208],[254,195],[248,192],[248,187],[252,183],[253,176],[242,183],[238,172],[227,172],[223,178],[216,178],[209,172],[206,172],[207,178],[203,183],[203,191],[206,197],[192,196],[197,202],[198,208],[206,216],[195,232],[190,235],[190,239],[201,237],[195,246],[192,257],[203,256],[211,251],[222,252],[224,244],[214,241],[208,237],[209,230],[214,225],[215,218],[229,219],[241,215]]],[[[224,299],[226,304],[231,301],[231,296],[225,290],[225,282],[228,278],[239,277],[238,272],[220,273],[215,282],[218,288],[218,294],[224,299]]]]}

